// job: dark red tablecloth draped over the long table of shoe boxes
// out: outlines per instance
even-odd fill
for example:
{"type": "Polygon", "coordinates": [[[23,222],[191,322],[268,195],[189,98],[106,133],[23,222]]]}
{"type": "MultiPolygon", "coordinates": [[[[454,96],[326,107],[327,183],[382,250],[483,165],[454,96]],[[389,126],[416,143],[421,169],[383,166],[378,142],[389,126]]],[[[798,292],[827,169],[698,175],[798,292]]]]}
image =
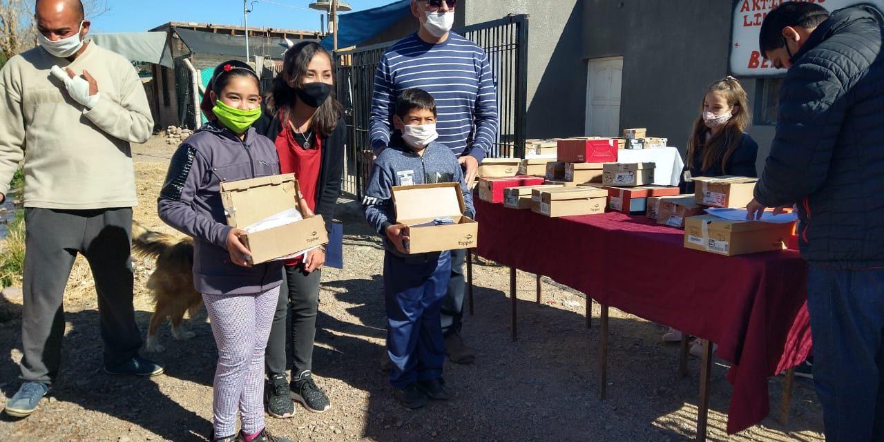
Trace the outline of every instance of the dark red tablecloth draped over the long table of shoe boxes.
{"type": "Polygon", "coordinates": [[[796,251],[722,256],[684,232],[618,212],[549,218],[476,199],[477,254],[599,303],[709,339],[730,362],[728,433],[770,411],[767,377],[811,348],[807,265],[796,251]]]}

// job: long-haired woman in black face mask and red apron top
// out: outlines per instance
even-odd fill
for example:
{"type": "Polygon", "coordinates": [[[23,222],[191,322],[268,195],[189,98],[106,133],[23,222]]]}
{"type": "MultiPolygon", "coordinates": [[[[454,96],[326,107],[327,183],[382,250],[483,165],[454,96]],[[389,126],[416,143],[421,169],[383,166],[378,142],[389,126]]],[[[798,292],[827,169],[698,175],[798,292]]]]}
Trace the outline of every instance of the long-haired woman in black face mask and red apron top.
{"type": "MultiPolygon", "coordinates": [[[[273,80],[272,93],[266,99],[267,111],[254,125],[258,133],[276,143],[279,170],[294,173],[310,210],[324,218],[327,230],[340,193],[347,131],[333,90],[331,54],[316,42],[298,43],[286,51],[283,70],[273,80]]],[[[291,398],[315,413],[331,407],[311,375],[324,262],[324,248],[286,262],[267,342],[267,411],[271,416],[291,417],[291,398]],[[292,318],[291,385],[286,379],[286,316],[292,318]]]]}

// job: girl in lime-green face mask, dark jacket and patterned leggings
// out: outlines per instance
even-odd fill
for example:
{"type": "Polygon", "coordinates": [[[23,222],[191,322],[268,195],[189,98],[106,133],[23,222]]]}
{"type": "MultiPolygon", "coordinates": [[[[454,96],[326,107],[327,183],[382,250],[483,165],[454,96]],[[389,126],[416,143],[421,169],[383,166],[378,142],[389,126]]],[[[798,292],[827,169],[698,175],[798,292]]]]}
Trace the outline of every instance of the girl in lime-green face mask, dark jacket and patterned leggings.
{"type": "Polygon", "coordinates": [[[289,442],[264,429],[264,348],[282,283],[282,263],[252,265],[227,225],[223,181],[279,173],[276,147],[252,123],[261,116],[258,76],[249,65],[218,65],[209,92],[215,119],[171,158],[157,202],[163,221],[194,237],[194,288],[202,293],[218,350],[212,441],[289,442]],[[236,433],[236,413],[242,421],[236,433]]]}

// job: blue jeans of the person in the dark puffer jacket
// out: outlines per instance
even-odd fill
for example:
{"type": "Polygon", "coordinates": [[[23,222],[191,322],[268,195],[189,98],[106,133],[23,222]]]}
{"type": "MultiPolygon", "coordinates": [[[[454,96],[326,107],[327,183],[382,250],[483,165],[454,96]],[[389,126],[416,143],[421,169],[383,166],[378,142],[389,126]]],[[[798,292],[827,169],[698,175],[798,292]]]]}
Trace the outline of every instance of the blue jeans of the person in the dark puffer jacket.
{"type": "Polygon", "coordinates": [[[812,265],[807,308],[827,442],[884,441],[884,269],[812,265]]]}

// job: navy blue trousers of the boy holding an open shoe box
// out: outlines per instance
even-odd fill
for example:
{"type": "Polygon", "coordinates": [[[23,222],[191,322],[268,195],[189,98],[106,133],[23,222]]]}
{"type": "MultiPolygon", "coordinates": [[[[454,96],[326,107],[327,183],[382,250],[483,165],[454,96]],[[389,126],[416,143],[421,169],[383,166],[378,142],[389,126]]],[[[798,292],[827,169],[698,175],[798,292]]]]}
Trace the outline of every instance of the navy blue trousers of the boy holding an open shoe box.
{"type": "Polygon", "coordinates": [[[402,258],[384,254],[390,383],[403,389],[442,377],[445,342],[439,308],[451,277],[448,252],[402,258]]]}

